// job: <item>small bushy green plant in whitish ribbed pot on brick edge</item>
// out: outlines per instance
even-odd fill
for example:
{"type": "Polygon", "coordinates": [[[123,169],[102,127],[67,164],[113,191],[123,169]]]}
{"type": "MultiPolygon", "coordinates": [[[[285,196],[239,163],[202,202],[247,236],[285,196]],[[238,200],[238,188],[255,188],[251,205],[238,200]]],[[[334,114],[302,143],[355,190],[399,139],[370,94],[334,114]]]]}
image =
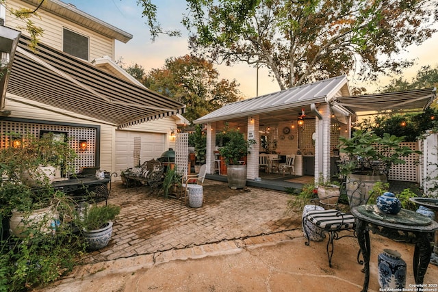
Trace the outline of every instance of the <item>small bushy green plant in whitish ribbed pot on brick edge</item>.
{"type": "Polygon", "coordinates": [[[81,227],[88,250],[105,248],[112,236],[113,220],[120,213],[120,207],[114,205],[92,206],[77,214],[77,224],[81,227]]]}

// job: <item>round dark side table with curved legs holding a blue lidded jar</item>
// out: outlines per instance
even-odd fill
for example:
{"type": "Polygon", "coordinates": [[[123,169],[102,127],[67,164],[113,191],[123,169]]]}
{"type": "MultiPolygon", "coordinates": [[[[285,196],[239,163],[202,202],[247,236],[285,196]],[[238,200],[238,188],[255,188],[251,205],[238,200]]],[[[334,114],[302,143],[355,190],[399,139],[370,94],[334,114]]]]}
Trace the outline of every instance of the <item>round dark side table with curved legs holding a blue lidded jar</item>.
{"type": "Polygon", "coordinates": [[[381,213],[375,204],[365,204],[351,209],[352,215],[357,219],[357,241],[363,256],[363,281],[362,292],[368,291],[370,282],[370,234],[383,235],[390,239],[405,240],[415,243],[413,253],[413,275],[415,284],[423,284],[424,275],[430,261],[430,237],[438,230],[438,223],[430,218],[402,209],[397,215],[381,213]]]}

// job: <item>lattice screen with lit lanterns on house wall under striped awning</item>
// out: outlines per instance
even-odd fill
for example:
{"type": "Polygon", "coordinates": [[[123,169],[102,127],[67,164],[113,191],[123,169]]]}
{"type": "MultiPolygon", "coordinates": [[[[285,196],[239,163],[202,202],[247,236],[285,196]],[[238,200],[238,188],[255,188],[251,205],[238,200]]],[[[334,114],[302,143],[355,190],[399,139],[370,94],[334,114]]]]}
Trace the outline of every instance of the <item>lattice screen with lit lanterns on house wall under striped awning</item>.
{"type": "MultiPolygon", "coordinates": [[[[79,168],[96,165],[96,128],[88,127],[72,127],[68,125],[56,124],[38,124],[31,122],[17,122],[10,120],[0,120],[1,133],[19,133],[21,135],[40,136],[40,131],[54,131],[67,133],[68,143],[75,149],[77,159],[75,160],[75,172],[79,172],[79,168]],[[86,140],[87,149],[79,150],[79,140],[86,140]]],[[[1,148],[9,146],[10,141],[5,135],[0,137],[1,148]]]]}

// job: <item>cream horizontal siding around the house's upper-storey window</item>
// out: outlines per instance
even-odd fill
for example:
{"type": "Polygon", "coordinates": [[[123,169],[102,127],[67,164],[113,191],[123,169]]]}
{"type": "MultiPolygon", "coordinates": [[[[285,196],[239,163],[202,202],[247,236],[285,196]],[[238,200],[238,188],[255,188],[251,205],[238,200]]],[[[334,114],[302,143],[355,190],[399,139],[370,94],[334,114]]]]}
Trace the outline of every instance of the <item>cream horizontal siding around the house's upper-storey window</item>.
{"type": "MultiPolygon", "coordinates": [[[[8,8],[29,8],[34,9],[30,5],[22,1],[8,1],[8,8]]],[[[9,12],[6,13],[6,26],[12,27],[14,29],[18,29],[25,36],[29,36],[27,31],[24,31],[22,28],[24,23],[14,16],[10,15],[9,12]]],[[[92,59],[96,59],[98,57],[102,57],[103,55],[108,55],[114,59],[114,40],[112,38],[107,38],[105,36],[101,36],[86,27],[81,27],[71,21],[67,21],[60,16],[56,16],[47,12],[45,10],[38,10],[38,17],[33,17],[32,21],[34,21],[35,25],[38,27],[42,27],[44,29],[43,35],[39,38],[40,42],[47,44],[55,49],[62,51],[62,31],[63,27],[66,27],[72,31],[75,31],[78,34],[82,34],[83,36],[88,36],[90,38],[89,44],[89,59],[87,61],[91,61],[92,59]]]]}

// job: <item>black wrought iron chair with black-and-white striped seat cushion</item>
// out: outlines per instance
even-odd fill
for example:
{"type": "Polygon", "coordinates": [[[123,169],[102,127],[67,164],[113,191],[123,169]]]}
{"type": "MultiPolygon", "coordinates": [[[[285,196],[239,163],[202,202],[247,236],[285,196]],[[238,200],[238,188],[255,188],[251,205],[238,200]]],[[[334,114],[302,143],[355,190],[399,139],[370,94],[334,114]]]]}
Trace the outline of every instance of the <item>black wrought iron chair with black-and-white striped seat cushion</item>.
{"type": "MultiPolygon", "coordinates": [[[[360,188],[363,187],[363,183],[355,181],[353,183],[355,187],[346,190],[346,183],[342,183],[342,188],[347,191],[348,202],[350,209],[360,204],[366,204],[368,202],[368,194],[361,194],[360,188]]],[[[326,198],[320,198],[318,200],[324,200],[326,198]]],[[[331,267],[331,259],[334,251],[334,240],[342,239],[343,237],[357,237],[356,235],[356,219],[350,213],[344,213],[337,209],[329,210],[317,210],[318,200],[315,201],[315,210],[308,211],[302,218],[302,228],[304,229],[307,237],[305,245],[310,244],[309,231],[307,230],[307,222],[319,227],[321,230],[320,235],[325,237],[325,233],[329,233],[329,241],[327,241],[327,256],[329,257],[329,267],[331,267]],[[346,235],[340,235],[339,233],[347,231],[346,235]]],[[[359,260],[360,250],[357,253],[357,262],[362,264],[359,260]]]]}

